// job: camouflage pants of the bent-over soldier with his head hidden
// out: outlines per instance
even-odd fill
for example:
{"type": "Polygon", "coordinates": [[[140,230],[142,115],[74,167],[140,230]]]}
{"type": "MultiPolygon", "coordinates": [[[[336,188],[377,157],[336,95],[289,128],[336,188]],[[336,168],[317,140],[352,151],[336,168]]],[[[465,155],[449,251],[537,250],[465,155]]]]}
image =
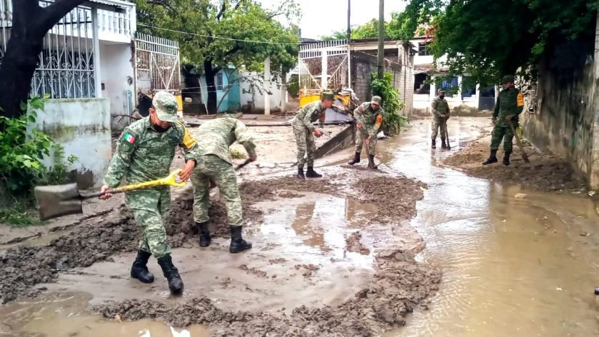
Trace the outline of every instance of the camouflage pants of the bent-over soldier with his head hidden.
{"type": "Polygon", "coordinates": [[[221,200],[227,208],[228,224],[241,226],[241,196],[237,186],[237,176],[233,165],[223,161],[214,154],[200,156],[193,169],[191,181],[193,183],[193,220],[196,222],[208,221],[208,208],[210,208],[210,185],[208,178],[216,182],[221,200]]]}

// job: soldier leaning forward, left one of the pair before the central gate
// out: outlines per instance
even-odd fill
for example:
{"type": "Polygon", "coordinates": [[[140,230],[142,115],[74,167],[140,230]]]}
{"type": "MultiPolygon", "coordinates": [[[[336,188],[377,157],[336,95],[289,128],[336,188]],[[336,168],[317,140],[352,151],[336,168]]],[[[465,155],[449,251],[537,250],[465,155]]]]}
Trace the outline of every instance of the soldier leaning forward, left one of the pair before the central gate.
{"type": "Polygon", "coordinates": [[[321,129],[324,126],[325,111],[333,106],[333,93],[323,92],[321,101],[306,104],[293,119],[293,134],[296,135],[296,143],[298,144],[298,178],[321,178],[322,175],[314,171],[314,153],[316,152],[316,144],[314,144],[314,136],[322,136],[322,131],[316,129],[313,123],[316,120],[320,121],[321,129]],[[307,152],[307,154],[306,154],[307,152]],[[306,159],[304,159],[306,155],[306,159]],[[308,164],[306,175],[303,174],[303,164],[308,164]]]}

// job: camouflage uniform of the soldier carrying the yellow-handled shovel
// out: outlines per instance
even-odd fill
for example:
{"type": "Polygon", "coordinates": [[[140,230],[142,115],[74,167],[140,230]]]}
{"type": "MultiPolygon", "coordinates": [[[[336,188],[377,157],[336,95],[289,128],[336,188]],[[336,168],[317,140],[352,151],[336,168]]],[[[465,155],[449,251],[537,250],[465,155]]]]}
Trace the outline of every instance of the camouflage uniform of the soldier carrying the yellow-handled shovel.
{"type": "MultiPolygon", "coordinates": [[[[163,102],[164,109],[173,109],[169,105],[172,103],[173,101],[163,102]]],[[[158,118],[168,121],[168,117],[158,112],[158,106],[156,108],[158,118]]],[[[174,109],[176,114],[176,106],[174,109]]],[[[164,132],[153,128],[149,116],[127,126],[117,142],[116,154],[104,176],[104,184],[119,186],[123,177],[126,183],[141,183],[168,176],[177,145],[185,149],[186,161],[195,160],[193,149],[196,141],[185,126],[176,121],[176,116],[173,117],[173,126],[164,132]]],[[[135,220],[144,229],[139,249],[152,253],[156,258],[170,255],[171,246],[166,241],[163,225],[171,203],[168,186],[128,192],[125,193],[125,198],[127,206],[134,212],[135,220]]]]}

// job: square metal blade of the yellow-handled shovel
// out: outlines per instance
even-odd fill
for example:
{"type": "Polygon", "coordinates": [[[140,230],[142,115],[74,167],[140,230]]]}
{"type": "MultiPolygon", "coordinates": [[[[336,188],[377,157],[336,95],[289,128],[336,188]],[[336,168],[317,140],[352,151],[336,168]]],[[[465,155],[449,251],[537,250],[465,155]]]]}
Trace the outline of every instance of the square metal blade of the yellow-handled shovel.
{"type": "Polygon", "coordinates": [[[76,183],[37,186],[35,196],[41,220],[83,213],[76,183]]]}

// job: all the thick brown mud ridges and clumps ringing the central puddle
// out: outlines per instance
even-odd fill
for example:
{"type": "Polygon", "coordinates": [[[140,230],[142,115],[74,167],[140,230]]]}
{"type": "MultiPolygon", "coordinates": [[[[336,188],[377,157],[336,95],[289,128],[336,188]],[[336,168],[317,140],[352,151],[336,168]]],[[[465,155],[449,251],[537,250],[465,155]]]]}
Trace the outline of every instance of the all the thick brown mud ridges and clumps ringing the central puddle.
{"type": "MultiPolygon", "coordinates": [[[[254,204],[285,199],[294,202],[301,200],[302,192],[343,196],[353,203],[371,204],[377,210],[376,216],[368,218],[362,228],[375,222],[379,226],[391,226],[414,216],[416,201],[423,198],[424,187],[425,184],[403,176],[376,176],[358,171],[343,173],[343,176],[342,173],[331,174],[318,180],[282,177],[248,181],[240,188],[244,226],[250,232],[258,231],[261,226],[265,214],[254,204]]],[[[212,198],[210,213],[209,226],[213,236],[228,237],[226,211],[218,197],[212,198]]],[[[166,227],[173,248],[195,241],[191,191],[184,191],[173,201],[166,227]]],[[[89,219],[68,235],[45,246],[9,248],[0,256],[1,301],[7,303],[24,296],[36,296],[45,288],[35,286],[54,283],[60,272],[88,267],[99,261],[112,261],[111,256],[116,253],[135,251],[139,234],[139,226],[131,212],[122,206],[108,216],[89,219]]],[[[361,236],[361,231],[348,235],[348,251],[368,256],[371,249],[363,244],[361,236]]],[[[376,251],[372,257],[373,276],[364,283],[366,286],[355,296],[334,306],[303,305],[291,308],[291,311],[286,308],[261,311],[255,307],[244,311],[243,306],[238,306],[233,311],[219,308],[210,298],[201,295],[186,302],[183,302],[184,298],[182,301],[126,299],[101,303],[93,309],[113,319],[118,315],[123,320],[159,318],[173,326],[203,324],[211,329],[213,336],[373,336],[405,323],[404,317],[414,308],[426,308],[427,297],[437,290],[440,273],[416,263],[414,252],[397,248],[376,251]]],[[[287,260],[273,258],[268,261],[273,265],[287,260]]],[[[246,273],[256,280],[276,278],[276,274],[271,275],[248,263],[239,263],[237,268],[239,273],[246,273]]],[[[321,266],[304,263],[296,264],[295,269],[306,280],[311,280],[321,266]]],[[[218,280],[223,287],[238,287],[231,284],[232,281],[231,278],[218,280]]]]}

